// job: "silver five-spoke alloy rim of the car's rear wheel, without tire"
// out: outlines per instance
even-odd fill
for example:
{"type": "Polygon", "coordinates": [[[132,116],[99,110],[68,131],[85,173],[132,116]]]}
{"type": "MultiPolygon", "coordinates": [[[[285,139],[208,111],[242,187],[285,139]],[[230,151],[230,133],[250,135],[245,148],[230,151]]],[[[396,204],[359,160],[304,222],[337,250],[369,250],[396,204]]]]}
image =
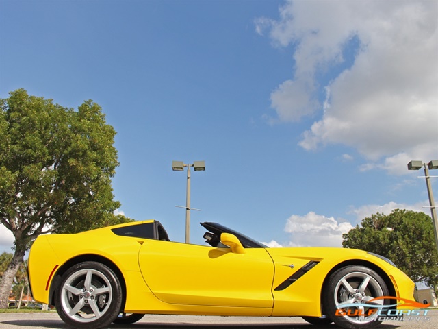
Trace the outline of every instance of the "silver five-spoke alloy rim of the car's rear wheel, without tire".
{"type": "Polygon", "coordinates": [[[68,317],[82,323],[96,321],[110,308],[112,285],[101,271],[80,269],[68,276],[60,297],[68,317]]]}

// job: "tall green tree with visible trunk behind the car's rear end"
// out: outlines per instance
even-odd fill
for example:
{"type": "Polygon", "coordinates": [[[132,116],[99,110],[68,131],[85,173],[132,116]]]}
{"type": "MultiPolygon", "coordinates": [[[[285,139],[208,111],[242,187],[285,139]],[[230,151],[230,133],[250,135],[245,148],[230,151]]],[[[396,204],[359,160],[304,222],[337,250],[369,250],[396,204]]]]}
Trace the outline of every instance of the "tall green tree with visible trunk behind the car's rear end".
{"type": "Polygon", "coordinates": [[[115,134],[91,100],[73,110],[23,89],[0,100],[0,223],[15,238],[0,308],[8,306],[15,273],[38,235],[128,220],[114,215],[115,134]]]}

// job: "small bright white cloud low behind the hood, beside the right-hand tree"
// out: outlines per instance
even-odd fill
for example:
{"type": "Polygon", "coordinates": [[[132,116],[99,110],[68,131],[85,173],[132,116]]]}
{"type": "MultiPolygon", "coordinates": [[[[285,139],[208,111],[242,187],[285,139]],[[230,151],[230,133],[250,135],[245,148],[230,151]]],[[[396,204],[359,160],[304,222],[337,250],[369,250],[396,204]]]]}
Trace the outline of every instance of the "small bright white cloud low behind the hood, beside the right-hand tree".
{"type": "Polygon", "coordinates": [[[352,229],[348,221],[338,222],[333,217],[309,212],[305,216],[292,215],[287,219],[285,232],[291,234],[290,246],[342,247],[342,234],[352,229]]]}

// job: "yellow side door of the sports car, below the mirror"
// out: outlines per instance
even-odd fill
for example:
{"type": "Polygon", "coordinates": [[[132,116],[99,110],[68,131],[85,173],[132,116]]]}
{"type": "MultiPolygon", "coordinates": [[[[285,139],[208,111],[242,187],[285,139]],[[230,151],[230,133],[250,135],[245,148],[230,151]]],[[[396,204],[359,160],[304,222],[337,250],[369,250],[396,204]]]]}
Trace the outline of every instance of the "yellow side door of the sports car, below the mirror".
{"type": "Polygon", "coordinates": [[[272,308],[274,265],[263,248],[144,241],[138,256],[149,289],[163,302],[272,308]]]}

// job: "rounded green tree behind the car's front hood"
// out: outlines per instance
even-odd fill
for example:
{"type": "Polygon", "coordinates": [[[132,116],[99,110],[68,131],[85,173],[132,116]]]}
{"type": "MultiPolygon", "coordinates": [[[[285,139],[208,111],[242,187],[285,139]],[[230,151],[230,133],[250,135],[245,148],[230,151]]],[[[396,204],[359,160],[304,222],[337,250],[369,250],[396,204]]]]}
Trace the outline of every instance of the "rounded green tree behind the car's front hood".
{"type": "Polygon", "coordinates": [[[396,209],[376,213],[343,234],[342,246],[385,256],[415,282],[438,284],[438,252],[432,219],[424,212],[396,209]]]}

